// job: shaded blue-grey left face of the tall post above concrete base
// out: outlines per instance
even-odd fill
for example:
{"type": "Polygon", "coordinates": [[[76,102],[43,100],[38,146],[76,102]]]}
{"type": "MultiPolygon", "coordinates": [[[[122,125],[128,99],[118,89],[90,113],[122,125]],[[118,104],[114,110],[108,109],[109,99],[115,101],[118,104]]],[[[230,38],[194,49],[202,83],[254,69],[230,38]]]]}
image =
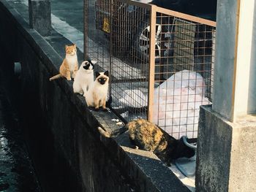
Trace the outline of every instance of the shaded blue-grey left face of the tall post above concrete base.
{"type": "Polygon", "coordinates": [[[217,9],[217,36],[219,35],[219,38],[216,39],[213,109],[225,118],[232,118],[233,114],[230,109],[233,107],[233,66],[236,47],[236,17],[234,14],[237,13],[237,6],[230,1],[227,10],[225,6],[221,6],[222,4],[218,4],[217,9]],[[222,54],[223,52],[225,54],[222,54]]]}

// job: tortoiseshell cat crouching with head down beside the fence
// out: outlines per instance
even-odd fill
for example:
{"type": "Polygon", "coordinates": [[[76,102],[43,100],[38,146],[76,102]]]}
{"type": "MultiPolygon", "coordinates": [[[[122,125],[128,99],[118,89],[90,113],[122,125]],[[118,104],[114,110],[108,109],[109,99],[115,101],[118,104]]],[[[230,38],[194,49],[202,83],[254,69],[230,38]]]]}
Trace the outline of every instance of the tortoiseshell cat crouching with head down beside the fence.
{"type": "Polygon", "coordinates": [[[100,134],[105,137],[116,137],[128,130],[132,145],[138,146],[141,150],[152,151],[167,166],[170,166],[170,162],[176,158],[190,158],[195,155],[195,150],[187,147],[182,138],[178,140],[171,137],[154,123],[145,119],[132,120],[126,126],[111,134],[100,127],[98,129],[100,134]]]}

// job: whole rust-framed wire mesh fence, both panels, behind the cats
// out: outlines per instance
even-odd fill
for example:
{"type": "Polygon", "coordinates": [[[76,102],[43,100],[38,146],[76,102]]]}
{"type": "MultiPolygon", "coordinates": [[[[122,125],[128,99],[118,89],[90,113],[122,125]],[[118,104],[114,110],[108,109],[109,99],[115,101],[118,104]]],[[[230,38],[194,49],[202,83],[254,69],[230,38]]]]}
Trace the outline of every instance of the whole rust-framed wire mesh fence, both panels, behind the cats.
{"type": "Polygon", "coordinates": [[[216,23],[136,1],[94,3],[85,4],[85,54],[110,71],[112,109],[196,138],[199,107],[211,104],[216,23]]]}

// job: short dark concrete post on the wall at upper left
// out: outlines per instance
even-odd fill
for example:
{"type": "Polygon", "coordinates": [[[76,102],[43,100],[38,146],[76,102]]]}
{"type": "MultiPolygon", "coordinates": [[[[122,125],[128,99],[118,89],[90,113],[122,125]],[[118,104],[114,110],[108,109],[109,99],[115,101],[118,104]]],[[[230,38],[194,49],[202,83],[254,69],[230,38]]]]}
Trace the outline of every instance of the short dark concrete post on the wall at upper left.
{"type": "Polygon", "coordinates": [[[29,0],[29,25],[42,36],[50,35],[50,0],[29,0]]]}

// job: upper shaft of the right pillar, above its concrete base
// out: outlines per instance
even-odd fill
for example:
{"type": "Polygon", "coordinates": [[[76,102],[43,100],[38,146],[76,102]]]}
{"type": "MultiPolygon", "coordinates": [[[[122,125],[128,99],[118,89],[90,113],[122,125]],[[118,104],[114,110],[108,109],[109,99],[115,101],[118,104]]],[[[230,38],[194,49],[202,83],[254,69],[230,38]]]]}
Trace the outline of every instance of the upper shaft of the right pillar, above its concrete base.
{"type": "Polygon", "coordinates": [[[218,0],[213,110],[230,121],[256,113],[255,0],[218,0]]]}

